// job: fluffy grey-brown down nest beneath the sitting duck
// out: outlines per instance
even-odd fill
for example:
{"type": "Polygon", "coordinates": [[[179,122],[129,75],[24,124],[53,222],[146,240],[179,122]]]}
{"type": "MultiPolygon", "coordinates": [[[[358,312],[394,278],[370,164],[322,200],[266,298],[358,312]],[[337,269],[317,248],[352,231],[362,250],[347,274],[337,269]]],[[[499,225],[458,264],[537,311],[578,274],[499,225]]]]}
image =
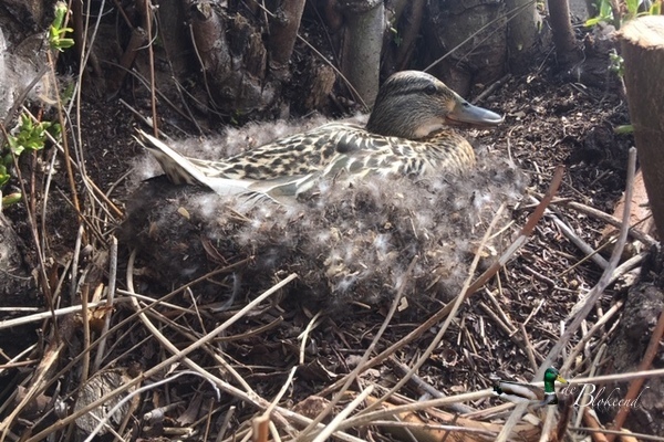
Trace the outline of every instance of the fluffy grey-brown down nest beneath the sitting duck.
{"type": "MultiPolygon", "coordinates": [[[[138,246],[152,284],[181,285],[242,262],[197,290],[232,299],[269,288],[274,275],[297,273],[289,294],[310,308],[376,305],[398,290],[429,305],[458,292],[487,223],[500,204],[520,198],[526,181],[495,158],[464,176],[343,178],[280,206],[158,177],[132,196],[120,238],[138,246]]],[[[495,256],[504,238],[495,238],[484,255],[495,256]]]]}

